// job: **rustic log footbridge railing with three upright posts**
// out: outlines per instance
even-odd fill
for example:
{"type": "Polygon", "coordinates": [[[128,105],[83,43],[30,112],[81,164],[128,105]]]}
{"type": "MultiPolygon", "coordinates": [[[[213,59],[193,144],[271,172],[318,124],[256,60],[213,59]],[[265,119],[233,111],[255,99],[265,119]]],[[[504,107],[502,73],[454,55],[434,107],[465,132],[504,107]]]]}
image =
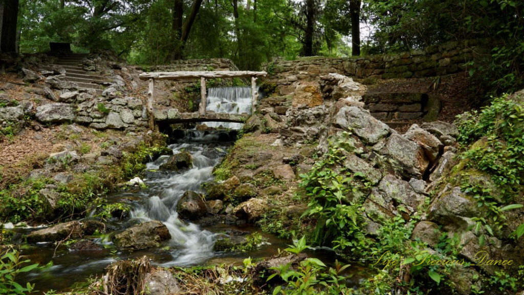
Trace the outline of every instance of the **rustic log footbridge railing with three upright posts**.
{"type": "Polygon", "coordinates": [[[147,100],[148,124],[149,129],[155,128],[155,117],[153,114],[153,99],[155,94],[155,80],[182,80],[182,79],[198,79],[200,78],[200,92],[201,100],[199,105],[199,113],[205,117],[205,108],[208,101],[207,91],[205,88],[206,79],[212,78],[235,78],[235,77],[251,77],[251,94],[252,113],[256,111],[258,90],[257,77],[265,77],[267,72],[264,71],[178,71],[178,72],[145,72],[138,77],[141,80],[149,80],[149,91],[147,100]]]}

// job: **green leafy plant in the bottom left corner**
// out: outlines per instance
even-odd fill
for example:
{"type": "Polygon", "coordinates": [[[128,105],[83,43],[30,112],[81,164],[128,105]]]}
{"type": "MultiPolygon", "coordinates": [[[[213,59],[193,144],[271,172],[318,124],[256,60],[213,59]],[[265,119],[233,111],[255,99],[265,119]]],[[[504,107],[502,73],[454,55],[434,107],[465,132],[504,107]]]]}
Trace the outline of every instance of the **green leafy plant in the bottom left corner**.
{"type": "Polygon", "coordinates": [[[38,267],[38,264],[24,266],[30,260],[21,260],[21,258],[20,253],[15,249],[7,248],[0,251],[0,294],[24,295],[31,293],[35,288],[35,284],[31,285],[29,282],[26,286],[16,282],[17,275],[38,267]]]}

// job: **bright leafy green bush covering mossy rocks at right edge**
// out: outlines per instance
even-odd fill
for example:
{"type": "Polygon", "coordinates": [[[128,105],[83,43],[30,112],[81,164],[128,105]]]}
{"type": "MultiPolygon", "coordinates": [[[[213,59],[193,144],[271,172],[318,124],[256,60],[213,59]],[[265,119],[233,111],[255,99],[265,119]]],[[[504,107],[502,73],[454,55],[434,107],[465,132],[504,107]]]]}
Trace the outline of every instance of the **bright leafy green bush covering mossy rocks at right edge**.
{"type": "MultiPolygon", "coordinates": [[[[473,144],[461,154],[462,170],[456,177],[461,180],[462,190],[476,199],[478,207],[487,209],[485,217],[474,219],[477,233],[484,227],[493,235],[494,230],[505,225],[504,212],[522,206],[512,204],[522,201],[515,197],[522,192],[524,181],[524,106],[519,99],[505,95],[493,99],[479,112],[466,112],[457,117],[458,140],[464,145],[473,144]],[[482,171],[494,185],[472,183],[468,178],[475,175],[472,171],[482,171]]],[[[522,234],[524,226],[514,233],[517,238],[522,234]]],[[[485,234],[481,235],[482,243],[486,239],[485,234]]]]}

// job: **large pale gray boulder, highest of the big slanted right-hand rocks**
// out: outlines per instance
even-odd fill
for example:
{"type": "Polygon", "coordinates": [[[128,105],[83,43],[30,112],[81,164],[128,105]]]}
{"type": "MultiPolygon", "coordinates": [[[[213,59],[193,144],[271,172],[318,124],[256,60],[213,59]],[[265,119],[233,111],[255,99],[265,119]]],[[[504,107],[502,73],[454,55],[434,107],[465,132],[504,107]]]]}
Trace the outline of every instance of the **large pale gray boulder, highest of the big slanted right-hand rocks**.
{"type": "Polygon", "coordinates": [[[355,106],[344,106],[334,116],[333,124],[346,131],[354,132],[364,143],[375,144],[385,138],[390,129],[375,119],[367,110],[355,106]]]}

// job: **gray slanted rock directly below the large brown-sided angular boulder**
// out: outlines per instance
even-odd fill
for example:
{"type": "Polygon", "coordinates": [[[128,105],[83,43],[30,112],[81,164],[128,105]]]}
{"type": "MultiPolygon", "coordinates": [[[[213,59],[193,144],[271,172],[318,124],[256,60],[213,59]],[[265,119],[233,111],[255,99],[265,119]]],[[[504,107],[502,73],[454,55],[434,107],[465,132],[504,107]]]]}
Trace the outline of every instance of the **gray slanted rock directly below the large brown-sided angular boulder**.
{"type": "Polygon", "coordinates": [[[384,192],[387,197],[395,199],[399,203],[410,206],[415,210],[424,202],[425,197],[416,193],[408,182],[391,174],[382,178],[378,184],[378,188],[381,192],[384,192]]]}

